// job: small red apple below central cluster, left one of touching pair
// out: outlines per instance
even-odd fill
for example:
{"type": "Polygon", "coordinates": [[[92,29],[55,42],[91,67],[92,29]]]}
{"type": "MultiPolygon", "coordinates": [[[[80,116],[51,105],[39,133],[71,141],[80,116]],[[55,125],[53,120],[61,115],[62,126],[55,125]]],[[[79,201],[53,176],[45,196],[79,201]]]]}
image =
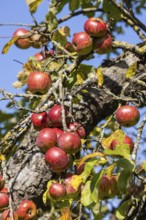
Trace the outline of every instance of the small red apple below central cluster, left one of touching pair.
{"type": "Polygon", "coordinates": [[[49,195],[54,200],[62,200],[66,195],[66,188],[61,183],[52,183],[49,188],[49,195]]]}

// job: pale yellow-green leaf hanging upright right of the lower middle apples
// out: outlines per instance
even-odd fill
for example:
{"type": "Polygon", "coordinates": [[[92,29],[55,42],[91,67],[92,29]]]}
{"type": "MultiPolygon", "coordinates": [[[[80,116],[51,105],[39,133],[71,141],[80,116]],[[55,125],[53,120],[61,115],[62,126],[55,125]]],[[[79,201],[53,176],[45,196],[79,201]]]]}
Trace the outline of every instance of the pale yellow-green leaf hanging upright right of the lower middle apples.
{"type": "Polygon", "coordinates": [[[81,203],[84,206],[89,206],[93,203],[90,186],[91,180],[88,180],[81,191],[81,203]]]}

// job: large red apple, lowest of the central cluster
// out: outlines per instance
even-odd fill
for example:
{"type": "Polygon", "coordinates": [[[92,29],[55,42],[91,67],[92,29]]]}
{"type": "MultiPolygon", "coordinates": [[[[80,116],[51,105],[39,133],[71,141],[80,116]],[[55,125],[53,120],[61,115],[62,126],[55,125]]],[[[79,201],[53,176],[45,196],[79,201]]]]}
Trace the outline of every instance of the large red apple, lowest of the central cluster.
{"type": "Polygon", "coordinates": [[[68,155],[59,147],[51,147],[45,154],[46,164],[53,172],[63,172],[69,167],[68,155]]]}

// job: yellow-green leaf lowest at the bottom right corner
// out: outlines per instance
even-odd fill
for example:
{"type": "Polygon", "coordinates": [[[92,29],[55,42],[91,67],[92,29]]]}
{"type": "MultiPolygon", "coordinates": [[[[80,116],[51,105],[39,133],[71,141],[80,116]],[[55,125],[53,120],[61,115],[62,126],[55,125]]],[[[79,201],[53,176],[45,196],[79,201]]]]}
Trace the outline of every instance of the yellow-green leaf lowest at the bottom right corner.
{"type": "Polygon", "coordinates": [[[130,203],[131,203],[131,201],[127,200],[119,206],[119,208],[116,210],[117,219],[119,219],[119,220],[125,219],[125,215],[127,213],[127,210],[129,208],[130,203]]]}

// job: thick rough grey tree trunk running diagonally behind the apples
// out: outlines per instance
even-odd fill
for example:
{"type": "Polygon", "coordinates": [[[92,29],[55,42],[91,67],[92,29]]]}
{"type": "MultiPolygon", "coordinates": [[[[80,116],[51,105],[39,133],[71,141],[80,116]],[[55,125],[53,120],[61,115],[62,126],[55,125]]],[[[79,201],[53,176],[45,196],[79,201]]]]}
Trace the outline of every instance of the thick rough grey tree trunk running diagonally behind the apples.
{"type": "MultiPolygon", "coordinates": [[[[87,134],[97,123],[116,110],[118,100],[113,94],[120,95],[125,83],[129,81],[125,77],[126,71],[135,62],[138,62],[135,75],[137,77],[146,72],[146,66],[144,59],[141,62],[141,58],[136,55],[125,53],[115,61],[104,62],[102,65],[104,87],[98,87],[97,83],[88,86],[86,88],[88,93],[83,95],[81,103],[74,105],[75,118],[84,123],[87,134]]],[[[146,76],[142,80],[146,82],[146,76]]],[[[139,102],[139,92],[144,90],[144,85],[144,83],[130,83],[127,88],[125,87],[123,95],[130,95],[131,98],[138,97],[137,103],[145,105],[145,100],[143,103],[139,102]]],[[[44,155],[35,146],[35,136],[36,134],[30,129],[19,143],[17,152],[7,162],[14,208],[24,198],[34,200],[40,206],[46,183],[52,177],[52,173],[45,164],[44,155]]]]}

